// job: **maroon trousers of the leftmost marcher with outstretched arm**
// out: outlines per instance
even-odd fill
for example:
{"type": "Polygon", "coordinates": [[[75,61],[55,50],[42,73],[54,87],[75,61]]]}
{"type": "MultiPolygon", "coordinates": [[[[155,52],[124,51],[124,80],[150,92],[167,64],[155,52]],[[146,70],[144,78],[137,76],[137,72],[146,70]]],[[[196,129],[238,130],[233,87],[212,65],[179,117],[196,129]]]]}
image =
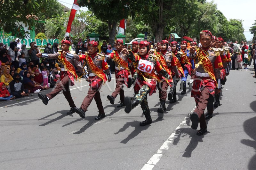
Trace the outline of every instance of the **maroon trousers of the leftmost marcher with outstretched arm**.
{"type": "Polygon", "coordinates": [[[68,101],[68,104],[70,107],[76,107],[72,97],[71,93],[69,91],[69,78],[68,75],[66,75],[64,78],[61,79],[61,81],[56,85],[56,87],[53,89],[52,92],[46,94],[46,96],[51,100],[54,98],[57,94],[59,94],[60,91],[63,91],[63,94],[65,98],[68,101]]]}

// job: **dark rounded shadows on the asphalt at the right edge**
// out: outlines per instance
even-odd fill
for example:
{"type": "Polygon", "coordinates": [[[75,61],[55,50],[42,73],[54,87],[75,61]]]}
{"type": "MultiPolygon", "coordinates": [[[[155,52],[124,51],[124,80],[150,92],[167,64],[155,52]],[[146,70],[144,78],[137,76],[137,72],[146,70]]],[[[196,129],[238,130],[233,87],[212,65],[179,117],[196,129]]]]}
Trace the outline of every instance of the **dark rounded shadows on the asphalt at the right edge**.
{"type": "MultiPolygon", "coordinates": [[[[253,101],[250,104],[250,107],[254,112],[256,112],[256,101],[253,101]]],[[[246,146],[250,146],[254,148],[256,151],[256,116],[244,121],[244,131],[245,133],[251,137],[253,140],[250,139],[242,139],[241,143],[245,144],[246,146]]],[[[248,163],[248,169],[254,170],[256,167],[256,154],[250,159],[250,162],[248,163]]]]}

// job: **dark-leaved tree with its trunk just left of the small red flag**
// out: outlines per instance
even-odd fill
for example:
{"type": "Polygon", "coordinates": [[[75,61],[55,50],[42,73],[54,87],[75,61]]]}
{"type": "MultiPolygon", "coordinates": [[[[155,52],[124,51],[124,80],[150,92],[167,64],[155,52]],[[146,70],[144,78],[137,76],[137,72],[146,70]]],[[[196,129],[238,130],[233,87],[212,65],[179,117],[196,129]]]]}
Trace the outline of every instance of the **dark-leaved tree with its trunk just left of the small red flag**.
{"type": "Polygon", "coordinates": [[[80,6],[86,6],[101,21],[108,23],[109,43],[114,44],[117,23],[134,16],[136,10],[151,10],[153,0],[77,0],[80,6]]]}

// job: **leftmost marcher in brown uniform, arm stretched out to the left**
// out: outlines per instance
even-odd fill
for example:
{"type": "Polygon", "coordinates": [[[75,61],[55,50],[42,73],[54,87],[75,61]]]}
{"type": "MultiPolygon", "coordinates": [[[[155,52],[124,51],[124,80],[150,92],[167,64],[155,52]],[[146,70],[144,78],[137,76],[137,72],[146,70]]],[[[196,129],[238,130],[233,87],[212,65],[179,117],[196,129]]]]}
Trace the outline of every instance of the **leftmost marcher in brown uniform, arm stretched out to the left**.
{"type": "Polygon", "coordinates": [[[69,82],[71,82],[71,86],[74,85],[74,78],[77,78],[76,70],[74,68],[74,64],[76,68],[80,72],[82,72],[82,65],[80,61],[84,60],[85,57],[83,55],[76,55],[73,56],[70,54],[70,56],[66,55],[66,53],[69,51],[70,41],[69,37],[65,37],[64,40],[61,41],[61,51],[59,51],[56,54],[46,54],[46,53],[38,53],[36,54],[37,57],[44,57],[47,59],[58,59],[58,63],[61,64],[61,72],[60,72],[60,78],[61,81],[56,85],[56,87],[53,89],[52,92],[43,95],[41,93],[38,93],[38,97],[43,100],[43,103],[45,105],[48,104],[48,101],[54,98],[59,92],[62,90],[65,98],[68,101],[69,106],[71,109],[68,111],[68,115],[74,113],[74,108],[76,107],[72,97],[71,93],[69,91],[69,82]]]}

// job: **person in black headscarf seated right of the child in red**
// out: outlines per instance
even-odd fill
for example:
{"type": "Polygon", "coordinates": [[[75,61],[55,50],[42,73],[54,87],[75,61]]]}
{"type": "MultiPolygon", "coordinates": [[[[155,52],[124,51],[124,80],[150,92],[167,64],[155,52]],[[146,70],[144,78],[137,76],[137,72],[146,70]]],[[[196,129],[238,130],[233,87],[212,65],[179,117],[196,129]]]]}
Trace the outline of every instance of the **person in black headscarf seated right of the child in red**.
{"type": "Polygon", "coordinates": [[[23,82],[21,81],[21,77],[18,73],[14,73],[14,79],[10,82],[11,95],[15,96],[15,98],[21,98],[24,96],[28,96],[28,90],[24,89],[23,82]]]}

